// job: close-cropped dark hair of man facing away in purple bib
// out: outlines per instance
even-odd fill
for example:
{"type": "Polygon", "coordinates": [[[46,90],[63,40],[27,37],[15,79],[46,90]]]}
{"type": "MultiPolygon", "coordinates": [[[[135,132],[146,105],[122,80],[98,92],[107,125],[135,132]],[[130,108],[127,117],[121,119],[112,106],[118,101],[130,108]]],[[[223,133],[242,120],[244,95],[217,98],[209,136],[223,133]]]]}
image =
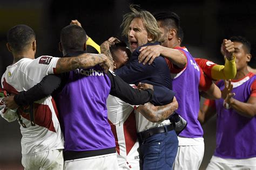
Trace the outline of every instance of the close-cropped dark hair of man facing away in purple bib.
{"type": "Polygon", "coordinates": [[[75,24],[65,26],[60,32],[60,42],[65,50],[83,50],[86,43],[86,32],[75,24]]]}

